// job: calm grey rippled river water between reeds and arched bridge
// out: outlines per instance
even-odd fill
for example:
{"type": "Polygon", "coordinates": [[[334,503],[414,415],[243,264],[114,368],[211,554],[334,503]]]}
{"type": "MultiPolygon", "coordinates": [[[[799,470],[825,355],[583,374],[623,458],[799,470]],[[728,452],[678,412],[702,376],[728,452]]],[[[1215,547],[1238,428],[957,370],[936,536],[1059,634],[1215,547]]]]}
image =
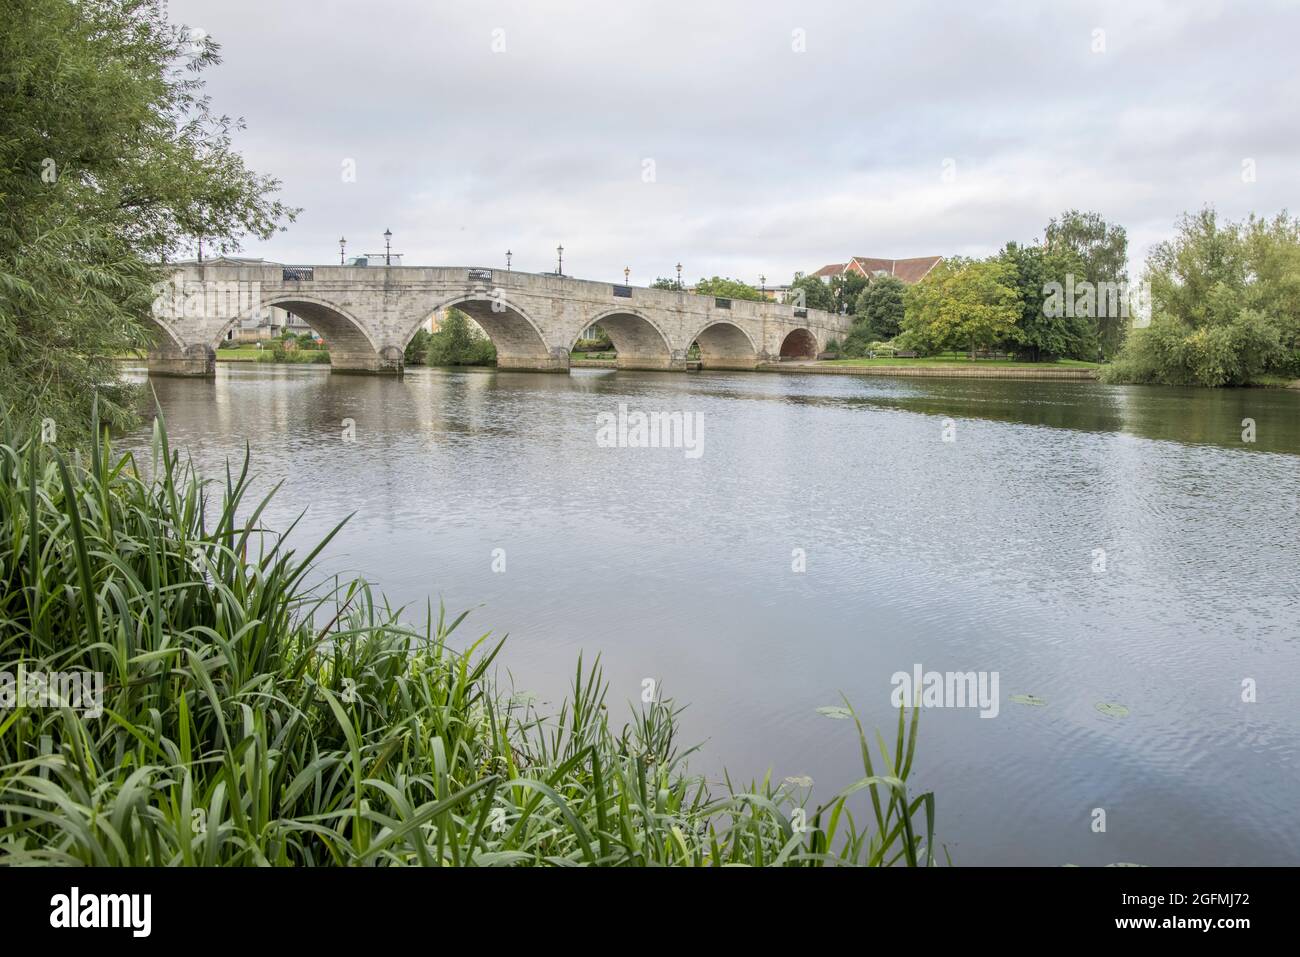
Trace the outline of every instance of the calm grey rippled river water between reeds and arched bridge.
{"type": "Polygon", "coordinates": [[[211,476],[247,442],[260,488],[283,480],[269,524],[307,508],[307,545],[355,512],[322,571],[419,618],[473,609],[463,641],[508,633],[517,689],[555,702],[599,654],[621,718],[660,679],[694,770],[822,797],[862,771],[818,707],[844,694],[888,733],[894,672],[996,672],[996,718],[920,715],[914,784],[954,863],[1300,863],[1300,393],[256,365],[152,385],[211,476]],[[702,454],[602,447],[619,403],[698,412],[702,454]]]}

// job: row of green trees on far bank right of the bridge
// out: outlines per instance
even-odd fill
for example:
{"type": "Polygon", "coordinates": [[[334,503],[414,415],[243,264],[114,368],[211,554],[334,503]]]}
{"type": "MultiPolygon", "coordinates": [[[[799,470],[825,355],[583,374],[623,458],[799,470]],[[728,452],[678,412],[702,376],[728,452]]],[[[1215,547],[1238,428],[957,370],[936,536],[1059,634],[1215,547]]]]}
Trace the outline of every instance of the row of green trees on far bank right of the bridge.
{"type": "Polygon", "coordinates": [[[796,276],[812,308],[853,325],[838,351],[1002,351],[1020,359],[1109,360],[1109,382],[1247,385],[1300,376],[1300,221],[1287,212],[1225,222],[1180,217],[1131,286],[1123,226],[1069,211],[1041,241],[984,259],[953,256],[920,282],[796,276]]]}

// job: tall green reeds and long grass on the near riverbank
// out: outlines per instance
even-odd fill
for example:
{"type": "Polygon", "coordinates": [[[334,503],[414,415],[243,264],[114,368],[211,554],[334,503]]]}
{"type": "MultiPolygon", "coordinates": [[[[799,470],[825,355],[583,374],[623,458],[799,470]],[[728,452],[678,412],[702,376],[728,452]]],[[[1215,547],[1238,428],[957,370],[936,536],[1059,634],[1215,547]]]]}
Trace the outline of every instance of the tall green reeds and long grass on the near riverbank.
{"type": "Polygon", "coordinates": [[[0,710],[0,866],[932,862],[915,711],[876,758],[827,722],[863,767],[820,807],[802,781],[715,793],[671,701],[618,722],[578,661],[541,714],[495,685],[499,641],[454,648],[462,619],[316,585],[333,533],[265,529],[247,462],[204,484],[157,421],[136,464],[0,443],[0,671],[105,681],[100,715],[0,710]]]}

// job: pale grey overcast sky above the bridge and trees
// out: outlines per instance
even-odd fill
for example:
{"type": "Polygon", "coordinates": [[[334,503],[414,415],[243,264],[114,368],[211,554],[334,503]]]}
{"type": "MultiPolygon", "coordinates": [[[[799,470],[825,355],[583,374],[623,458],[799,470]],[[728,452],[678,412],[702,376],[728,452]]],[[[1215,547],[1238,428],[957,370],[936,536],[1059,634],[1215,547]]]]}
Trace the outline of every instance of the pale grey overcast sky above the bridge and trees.
{"type": "Polygon", "coordinates": [[[788,282],[1300,185],[1296,3],[172,0],[303,207],[246,255],[788,282]],[[1098,33],[1104,31],[1104,33],[1098,33]],[[346,181],[348,161],[355,182],[346,181]],[[1243,164],[1253,161],[1253,182],[1243,164]],[[946,176],[945,176],[946,173],[946,176]]]}

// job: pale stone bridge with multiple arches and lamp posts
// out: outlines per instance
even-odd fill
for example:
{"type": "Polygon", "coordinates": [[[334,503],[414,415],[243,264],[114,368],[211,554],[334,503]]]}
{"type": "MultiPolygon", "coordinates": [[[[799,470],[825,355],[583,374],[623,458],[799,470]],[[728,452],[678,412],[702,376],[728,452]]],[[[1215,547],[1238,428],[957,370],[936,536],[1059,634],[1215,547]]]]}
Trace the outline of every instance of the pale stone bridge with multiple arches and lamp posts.
{"type": "Polygon", "coordinates": [[[614,343],[619,368],[685,369],[686,351],[699,343],[702,368],[753,369],[814,356],[842,339],[850,321],[771,302],[503,269],[186,264],[155,303],[160,333],[150,371],[213,374],[226,332],[269,306],[320,333],[334,369],[394,373],[416,330],[448,306],[482,326],[498,368],[546,372],[567,371],[569,350],[594,324],[614,343]]]}

